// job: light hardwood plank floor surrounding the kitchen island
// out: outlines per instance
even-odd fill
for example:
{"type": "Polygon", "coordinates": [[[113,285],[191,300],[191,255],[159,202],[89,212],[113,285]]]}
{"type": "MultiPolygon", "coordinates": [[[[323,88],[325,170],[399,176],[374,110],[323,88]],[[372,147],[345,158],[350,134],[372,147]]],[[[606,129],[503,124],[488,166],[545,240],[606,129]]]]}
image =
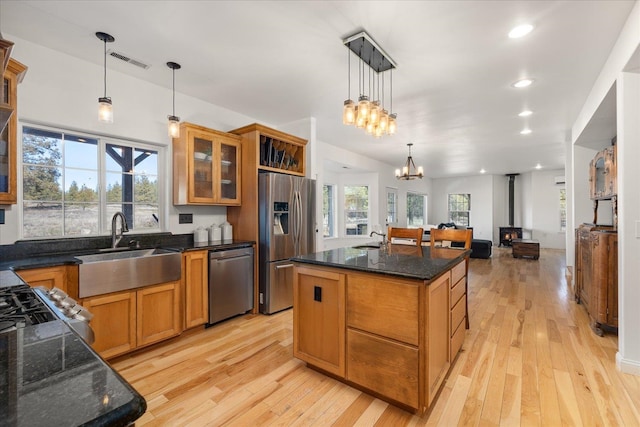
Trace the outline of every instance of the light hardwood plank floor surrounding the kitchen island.
{"type": "Polygon", "coordinates": [[[292,312],[247,315],[113,361],[147,399],[136,425],[640,425],[640,377],[615,366],[565,280],[494,248],[472,259],[471,328],[430,413],[418,417],[292,357],[292,312]]]}

